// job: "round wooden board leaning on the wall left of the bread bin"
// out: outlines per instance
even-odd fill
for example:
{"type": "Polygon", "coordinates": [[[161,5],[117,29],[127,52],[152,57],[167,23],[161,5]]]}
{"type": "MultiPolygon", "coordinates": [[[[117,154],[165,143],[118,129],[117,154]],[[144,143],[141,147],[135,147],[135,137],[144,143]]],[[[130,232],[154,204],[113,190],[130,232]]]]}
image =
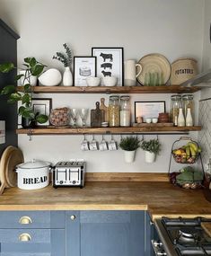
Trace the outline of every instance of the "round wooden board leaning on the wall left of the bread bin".
{"type": "Polygon", "coordinates": [[[15,166],[23,163],[22,151],[15,146],[7,146],[0,161],[0,181],[5,188],[14,187],[17,184],[17,173],[15,166]]]}

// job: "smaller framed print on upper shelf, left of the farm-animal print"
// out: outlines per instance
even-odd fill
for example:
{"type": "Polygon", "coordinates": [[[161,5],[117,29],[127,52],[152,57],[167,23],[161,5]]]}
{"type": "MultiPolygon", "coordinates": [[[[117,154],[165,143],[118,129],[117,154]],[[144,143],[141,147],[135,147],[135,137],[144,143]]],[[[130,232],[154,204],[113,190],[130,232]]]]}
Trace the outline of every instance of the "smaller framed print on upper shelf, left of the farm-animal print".
{"type": "Polygon", "coordinates": [[[96,76],[96,57],[74,57],[75,86],[87,86],[86,78],[96,76]]]}

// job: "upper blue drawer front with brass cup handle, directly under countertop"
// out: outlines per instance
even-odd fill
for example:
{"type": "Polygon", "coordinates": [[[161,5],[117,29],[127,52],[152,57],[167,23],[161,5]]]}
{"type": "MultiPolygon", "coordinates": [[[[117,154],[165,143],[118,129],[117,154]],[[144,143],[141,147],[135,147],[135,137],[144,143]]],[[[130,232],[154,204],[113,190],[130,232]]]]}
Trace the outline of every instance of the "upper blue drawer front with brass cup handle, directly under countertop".
{"type": "Polygon", "coordinates": [[[65,228],[65,211],[0,211],[0,228],[65,228]]]}

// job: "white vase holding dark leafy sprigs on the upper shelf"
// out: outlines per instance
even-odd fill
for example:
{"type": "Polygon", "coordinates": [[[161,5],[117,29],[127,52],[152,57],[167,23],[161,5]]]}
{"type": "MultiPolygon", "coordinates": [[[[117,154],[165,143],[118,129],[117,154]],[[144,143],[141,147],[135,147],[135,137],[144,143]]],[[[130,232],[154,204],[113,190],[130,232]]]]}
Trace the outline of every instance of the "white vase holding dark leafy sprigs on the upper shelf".
{"type": "Polygon", "coordinates": [[[66,50],[66,54],[62,52],[57,52],[54,59],[59,60],[65,66],[65,72],[63,75],[63,85],[64,86],[72,86],[73,85],[73,75],[70,70],[70,66],[72,63],[72,50],[69,49],[66,43],[63,44],[64,49],[66,50]]]}

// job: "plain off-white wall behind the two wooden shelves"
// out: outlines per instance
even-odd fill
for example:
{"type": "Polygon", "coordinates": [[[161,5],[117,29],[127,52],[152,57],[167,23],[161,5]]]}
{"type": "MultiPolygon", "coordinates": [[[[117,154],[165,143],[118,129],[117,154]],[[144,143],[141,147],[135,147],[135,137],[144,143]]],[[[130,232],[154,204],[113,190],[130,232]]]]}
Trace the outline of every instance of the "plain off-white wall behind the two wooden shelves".
{"type": "MultiPolygon", "coordinates": [[[[18,60],[34,56],[48,66],[63,67],[52,56],[69,43],[75,55],[91,55],[92,47],[124,47],[125,59],[159,52],[170,62],[177,57],[195,57],[201,66],[204,1],[198,0],[0,0],[0,16],[17,31],[18,60]]],[[[36,95],[37,96],[37,95],[36,95]]],[[[43,95],[39,95],[41,97],[43,95]]],[[[101,96],[46,94],[53,107],[94,107],[101,96]]],[[[132,95],[134,101],[164,100],[170,110],[169,94],[132,95]]],[[[198,93],[195,93],[198,100],[198,93]]],[[[198,108],[198,101],[196,101],[198,108]]],[[[154,137],[154,136],[152,136],[154,137]]],[[[144,163],[139,150],[136,162],[123,163],[117,152],[80,151],[82,136],[19,136],[25,159],[33,157],[56,163],[58,160],[84,157],[88,172],[167,172],[172,142],[179,136],[160,136],[163,151],[154,164],[144,163]]],[[[197,137],[197,133],[193,133],[197,137]]],[[[89,139],[91,137],[88,137],[89,139]]],[[[149,136],[145,138],[150,138],[149,136]]],[[[101,137],[97,137],[101,140],[101,137]]],[[[110,140],[110,137],[106,137],[110,140]]],[[[115,136],[119,140],[119,136],[115,136]]]]}

